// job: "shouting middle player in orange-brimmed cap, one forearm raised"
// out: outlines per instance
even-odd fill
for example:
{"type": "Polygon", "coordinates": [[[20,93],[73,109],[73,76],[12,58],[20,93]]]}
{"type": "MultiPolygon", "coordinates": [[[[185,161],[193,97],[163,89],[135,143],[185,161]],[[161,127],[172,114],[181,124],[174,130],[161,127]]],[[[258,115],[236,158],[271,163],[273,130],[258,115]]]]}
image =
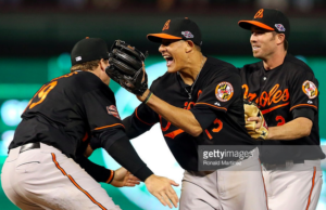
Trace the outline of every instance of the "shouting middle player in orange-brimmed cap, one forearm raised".
{"type": "MultiPolygon", "coordinates": [[[[137,94],[142,104],[123,120],[127,135],[133,139],[161,124],[166,144],[185,169],[180,210],[266,210],[256,145],[244,129],[238,70],[201,53],[200,29],[187,17],[168,19],[161,34],[148,39],[161,43],[167,73],[137,94]],[[199,171],[199,145],[247,145],[253,157],[239,167],[199,171]]],[[[108,71],[113,74],[115,67],[112,63],[108,71]]],[[[130,83],[117,81],[133,92],[130,83]]]]}

